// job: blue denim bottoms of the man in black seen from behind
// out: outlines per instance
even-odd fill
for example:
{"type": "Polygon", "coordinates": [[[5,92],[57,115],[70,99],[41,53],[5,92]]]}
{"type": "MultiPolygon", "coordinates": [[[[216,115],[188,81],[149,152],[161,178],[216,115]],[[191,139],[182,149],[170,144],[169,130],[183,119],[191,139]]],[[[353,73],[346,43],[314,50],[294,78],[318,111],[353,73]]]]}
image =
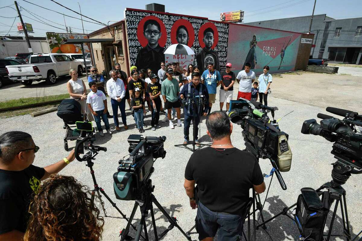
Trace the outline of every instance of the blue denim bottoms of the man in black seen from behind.
{"type": "Polygon", "coordinates": [[[198,204],[195,222],[199,240],[214,237],[219,229],[218,241],[238,241],[243,232],[241,215],[213,212],[201,202],[198,204]]]}

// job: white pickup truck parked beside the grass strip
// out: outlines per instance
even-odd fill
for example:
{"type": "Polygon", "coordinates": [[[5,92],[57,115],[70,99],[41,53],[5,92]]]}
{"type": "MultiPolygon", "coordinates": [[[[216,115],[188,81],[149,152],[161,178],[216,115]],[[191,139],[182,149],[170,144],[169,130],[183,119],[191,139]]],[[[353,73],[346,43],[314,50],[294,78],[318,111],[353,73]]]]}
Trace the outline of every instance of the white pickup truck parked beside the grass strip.
{"type": "Polygon", "coordinates": [[[48,85],[56,81],[56,77],[69,74],[70,69],[75,69],[78,75],[83,74],[83,63],[65,54],[47,53],[31,55],[29,64],[7,65],[9,79],[20,81],[23,85],[31,85],[33,81],[45,79],[48,85]]]}

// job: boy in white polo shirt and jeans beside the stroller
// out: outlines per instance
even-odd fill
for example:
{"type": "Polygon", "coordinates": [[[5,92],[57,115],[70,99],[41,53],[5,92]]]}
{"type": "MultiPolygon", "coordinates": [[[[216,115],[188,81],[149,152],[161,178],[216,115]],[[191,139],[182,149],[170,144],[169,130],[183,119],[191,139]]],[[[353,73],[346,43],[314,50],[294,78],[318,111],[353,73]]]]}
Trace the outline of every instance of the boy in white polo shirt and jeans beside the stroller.
{"type": "Polygon", "coordinates": [[[104,122],[106,131],[108,134],[112,134],[112,131],[109,129],[109,122],[107,118],[107,98],[106,95],[97,89],[96,82],[89,82],[90,91],[87,95],[87,105],[90,112],[92,112],[94,116],[94,120],[96,121],[96,125],[98,128],[99,135],[102,137],[103,129],[101,125],[101,117],[104,122]]]}

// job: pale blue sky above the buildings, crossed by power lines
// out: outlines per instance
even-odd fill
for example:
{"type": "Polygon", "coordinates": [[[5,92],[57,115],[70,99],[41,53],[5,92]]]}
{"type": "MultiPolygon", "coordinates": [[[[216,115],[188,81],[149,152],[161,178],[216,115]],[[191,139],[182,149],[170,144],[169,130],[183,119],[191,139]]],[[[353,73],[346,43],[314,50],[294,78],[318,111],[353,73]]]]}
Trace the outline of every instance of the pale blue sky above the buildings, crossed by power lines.
{"type": "MultiPolygon", "coordinates": [[[[52,10],[55,10],[60,13],[67,14],[69,16],[78,17],[80,15],[71,12],[70,10],[63,8],[50,0],[27,0],[31,3],[46,7],[52,10]]],[[[79,5],[77,1],[72,0],[57,0],[62,5],[71,8],[79,12],[79,5]]],[[[102,23],[107,23],[108,21],[119,21],[123,19],[124,9],[125,8],[137,8],[144,9],[145,5],[151,3],[152,1],[138,0],[130,4],[130,1],[110,1],[110,0],[78,0],[81,6],[81,12],[83,15],[93,18],[94,20],[100,21],[102,23]],[[114,3],[116,3],[114,5],[114,3]]],[[[27,3],[23,0],[18,0],[18,4],[24,9],[21,11],[21,14],[24,16],[24,22],[31,23],[34,28],[33,36],[45,36],[46,32],[56,32],[62,33],[65,32],[65,26],[67,25],[72,28],[72,32],[83,33],[82,23],[80,20],[65,17],[66,24],[64,24],[64,18],[62,14],[51,12],[46,9],[39,8],[35,5],[27,3]],[[35,17],[41,19],[42,21],[49,23],[52,26],[45,25],[43,23],[36,22],[39,21],[35,17]],[[41,16],[45,19],[42,19],[38,16],[41,16]],[[34,20],[29,19],[33,18],[34,20]],[[49,20],[49,21],[48,21],[49,20]],[[52,22],[50,22],[52,21],[52,22]],[[53,23],[55,22],[55,23],[53,23]],[[60,25],[59,25],[59,24],[60,25]],[[53,27],[54,26],[54,27],[53,27]],[[58,27],[60,29],[57,29],[58,27]],[[75,29],[77,28],[77,29],[75,29]],[[64,30],[62,30],[64,29],[64,30]]],[[[240,0],[229,0],[229,1],[219,1],[219,0],[209,0],[209,1],[153,1],[160,4],[164,4],[166,7],[166,12],[185,14],[191,16],[207,17],[211,20],[218,20],[221,12],[229,12],[234,10],[244,10],[244,22],[254,22],[262,20],[271,20],[277,18],[288,18],[288,17],[297,17],[297,16],[306,16],[311,15],[313,10],[313,0],[274,0],[274,1],[240,1],[240,0]],[[172,4],[169,4],[172,2],[172,4]],[[256,3],[254,4],[253,3],[256,3]],[[225,4],[226,3],[226,4],[225,4]],[[242,3],[242,4],[240,4],[242,3]]],[[[327,14],[327,16],[332,18],[353,18],[353,17],[362,17],[360,11],[361,0],[348,0],[348,4],[341,5],[341,1],[337,0],[317,0],[315,14],[327,14]]],[[[14,10],[15,6],[2,8],[8,5],[14,4],[12,0],[1,0],[0,1],[0,36],[5,35],[9,30],[9,34],[14,36],[23,36],[23,34],[17,33],[16,23],[20,22],[19,18],[16,18],[14,25],[12,25],[14,18],[17,16],[17,12],[14,10]],[[14,8],[14,9],[12,9],[14,8]],[[4,18],[9,17],[9,18],[4,18]]],[[[87,18],[83,20],[91,21],[87,18]]],[[[114,23],[110,22],[109,24],[114,23]]],[[[83,22],[85,33],[90,33],[92,30],[97,30],[102,28],[101,25],[94,23],[83,22]]],[[[361,23],[362,24],[362,23],[361,23]]]]}

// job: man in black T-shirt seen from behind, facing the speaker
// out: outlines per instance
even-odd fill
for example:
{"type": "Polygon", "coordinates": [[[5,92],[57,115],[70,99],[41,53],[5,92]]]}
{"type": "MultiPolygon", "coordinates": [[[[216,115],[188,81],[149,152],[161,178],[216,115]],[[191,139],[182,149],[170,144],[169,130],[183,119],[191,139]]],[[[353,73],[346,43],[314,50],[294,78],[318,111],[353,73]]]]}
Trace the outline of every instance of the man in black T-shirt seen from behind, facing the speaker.
{"type": "Polygon", "coordinates": [[[226,113],[214,111],[206,118],[212,145],[195,151],[186,165],[186,194],[195,209],[194,188],[198,186],[198,210],[195,219],[199,240],[237,241],[249,190],[265,191],[258,160],[251,153],[233,147],[232,124],[226,113]]]}

